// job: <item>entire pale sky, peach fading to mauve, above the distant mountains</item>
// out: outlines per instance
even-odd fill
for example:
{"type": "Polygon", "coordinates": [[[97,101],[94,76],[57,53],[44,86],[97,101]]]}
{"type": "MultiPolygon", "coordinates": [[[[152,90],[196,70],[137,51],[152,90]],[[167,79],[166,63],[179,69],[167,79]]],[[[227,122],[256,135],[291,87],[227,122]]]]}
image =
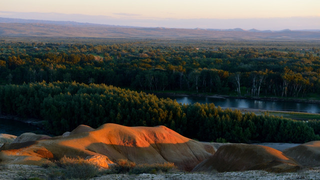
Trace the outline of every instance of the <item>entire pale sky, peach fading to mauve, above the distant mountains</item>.
{"type": "Polygon", "coordinates": [[[146,27],[320,29],[320,0],[0,1],[0,17],[146,27]]]}

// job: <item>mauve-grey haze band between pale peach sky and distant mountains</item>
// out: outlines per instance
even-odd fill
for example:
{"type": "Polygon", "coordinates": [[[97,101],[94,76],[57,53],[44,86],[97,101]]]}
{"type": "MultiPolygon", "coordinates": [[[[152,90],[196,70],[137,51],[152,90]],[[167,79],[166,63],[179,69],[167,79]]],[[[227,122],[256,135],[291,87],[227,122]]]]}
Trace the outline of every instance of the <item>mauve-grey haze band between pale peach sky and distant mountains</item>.
{"type": "MultiPolygon", "coordinates": [[[[251,29],[256,29],[259,31],[266,31],[266,30],[271,30],[271,31],[280,31],[280,30],[285,30],[285,29],[290,29],[290,30],[320,30],[320,16],[295,16],[295,17],[269,17],[269,18],[227,18],[227,19],[221,19],[221,18],[189,18],[189,19],[180,19],[180,18],[169,18],[169,19],[139,19],[139,18],[114,18],[110,16],[105,16],[105,15],[86,15],[86,14],[65,14],[65,13],[56,13],[56,12],[16,12],[17,14],[1,14],[1,12],[13,12],[13,11],[0,11],[0,17],[2,18],[11,18],[11,19],[23,19],[23,20],[42,20],[42,21],[61,21],[61,22],[77,22],[77,23],[90,23],[90,24],[100,24],[100,25],[114,25],[114,26],[129,26],[129,27],[146,27],[146,28],[156,28],[156,27],[161,27],[161,28],[185,28],[185,29],[217,29],[217,30],[222,30],[222,29],[236,29],[240,28],[243,30],[251,30],[251,29]],[[28,13],[29,16],[26,17],[21,17],[20,13],[28,13]],[[59,14],[60,16],[47,16],[47,17],[38,17],[36,16],[37,14],[59,14]],[[8,16],[9,15],[9,16],[8,16]],[[81,15],[82,17],[77,17],[75,15],[81,15]],[[100,18],[95,18],[92,19],[90,17],[100,17],[100,18]],[[104,18],[102,18],[104,17],[104,18]],[[105,18],[108,17],[108,18],[105,18]],[[289,19],[289,20],[284,20],[285,21],[293,21],[295,20],[303,20],[303,19],[314,19],[318,18],[318,24],[311,24],[311,26],[303,26],[298,24],[292,27],[289,25],[281,24],[279,25],[274,25],[276,22],[282,22],[281,20],[284,19],[289,19]],[[260,21],[267,21],[268,23],[271,23],[274,25],[271,27],[271,25],[266,26],[265,23],[262,23],[260,21]],[[134,21],[134,22],[132,22],[134,21]],[[242,21],[243,23],[240,23],[239,21],[242,21]],[[252,22],[250,22],[252,21],[252,22]],[[256,24],[253,23],[254,21],[258,21],[259,24],[253,26],[251,24],[256,24]],[[176,22],[179,22],[180,24],[177,25],[176,22]],[[193,24],[190,24],[192,22],[193,24]],[[209,22],[209,23],[208,23],[209,22]],[[226,22],[235,22],[233,26],[232,23],[226,23],[226,22]],[[186,24],[186,25],[181,25],[181,24],[186,24]],[[202,24],[201,24],[202,23],[202,24]],[[205,25],[203,25],[205,24],[205,25]],[[210,26],[208,26],[208,24],[210,26]],[[238,24],[238,25],[236,25],[238,24]],[[261,26],[263,24],[263,27],[261,26]],[[283,25],[283,26],[282,26],[283,25]],[[261,26],[261,27],[258,27],[261,26]]],[[[15,12],[13,12],[15,13],[15,12]]]]}

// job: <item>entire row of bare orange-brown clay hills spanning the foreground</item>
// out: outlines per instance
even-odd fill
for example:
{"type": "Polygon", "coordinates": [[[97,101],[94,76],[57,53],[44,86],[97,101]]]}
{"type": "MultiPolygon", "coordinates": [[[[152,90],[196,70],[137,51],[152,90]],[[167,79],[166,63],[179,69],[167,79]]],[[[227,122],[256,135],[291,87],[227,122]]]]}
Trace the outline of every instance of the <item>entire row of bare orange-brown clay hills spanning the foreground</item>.
{"type": "Polygon", "coordinates": [[[3,139],[4,136],[0,147],[1,163],[41,165],[63,156],[79,156],[104,168],[126,159],[136,164],[173,162],[186,171],[263,169],[274,172],[320,164],[320,141],[283,152],[252,144],[224,144],[215,152],[210,143],[186,138],[162,125],[127,127],[107,123],[96,129],[79,125],[55,137],[23,133],[13,141],[13,137],[3,139]]]}

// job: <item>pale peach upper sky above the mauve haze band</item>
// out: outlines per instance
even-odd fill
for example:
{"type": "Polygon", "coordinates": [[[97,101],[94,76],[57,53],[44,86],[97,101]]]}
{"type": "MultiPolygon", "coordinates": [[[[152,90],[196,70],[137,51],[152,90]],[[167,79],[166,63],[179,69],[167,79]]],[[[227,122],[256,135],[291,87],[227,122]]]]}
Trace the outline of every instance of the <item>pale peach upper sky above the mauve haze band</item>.
{"type": "MultiPolygon", "coordinates": [[[[137,19],[248,19],[320,17],[320,0],[0,0],[5,12],[55,12],[137,19]]],[[[2,11],[2,12],[1,12],[2,11]]],[[[13,17],[13,16],[12,16],[13,17]]],[[[16,17],[14,17],[16,18],[16,17]]],[[[23,18],[23,17],[19,17],[23,18]]],[[[39,17],[38,19],[40,19],[39,17]]],[[[46,20],[46,19],[44,19],[46,20]]],[[[57,19],[63,20],[63,19],[57,19]]],[[[70,19],[67,19],[70,20],[70,19]]],[[[74,19],[74,21],[77,21],[74,19]]],[[[89,22],[89,20],[87,20],[89,22]]],[[[205,23],[205,22],[203,22],[205,23]]],[[[315,22],[319,23],[319,22],[315,22]]],[[[123,25],[123,24],[119,24],[123,25]]],[[[128,24],[132,25],[132,24],[128,24]]],[[[154,24],[156,25],[156,24],[154,24]]],[[[194,24],[199,27],[199,24],[194,24]]],[[[146,23],[145,26],[148,26],[146,23]]],[[[149,26],[152,26],[150,24],[149,26]]],[[[160,26],[160,25],[158,25],[160,26]]],[[[212,27],[213,28],[213,27],[212,27]]],[[[235,27],[234,27],[235,28],[235,27]]],[[[320,28],[320,27],[319,27],[320,28]]]]}

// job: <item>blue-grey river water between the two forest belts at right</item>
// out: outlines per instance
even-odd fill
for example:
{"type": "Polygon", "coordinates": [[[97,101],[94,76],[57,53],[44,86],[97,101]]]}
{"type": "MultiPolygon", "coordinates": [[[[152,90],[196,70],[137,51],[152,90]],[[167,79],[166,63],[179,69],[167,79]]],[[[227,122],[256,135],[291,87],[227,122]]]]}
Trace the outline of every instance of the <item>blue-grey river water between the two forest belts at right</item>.
{"type": "Polygon", "coordinates": [[[252,108],[263,110],[283,110],[294,112],[320,113],[320,104],[289,101],[254,100],[254,99],[235,99],[235,98],[216,98],[203,96],[178,96],[178,95],[157,95],[158,97],[169,97],[176,99],[179,103],[193,104],[214,103],[215,106],[229,108],[252,108]]]}

